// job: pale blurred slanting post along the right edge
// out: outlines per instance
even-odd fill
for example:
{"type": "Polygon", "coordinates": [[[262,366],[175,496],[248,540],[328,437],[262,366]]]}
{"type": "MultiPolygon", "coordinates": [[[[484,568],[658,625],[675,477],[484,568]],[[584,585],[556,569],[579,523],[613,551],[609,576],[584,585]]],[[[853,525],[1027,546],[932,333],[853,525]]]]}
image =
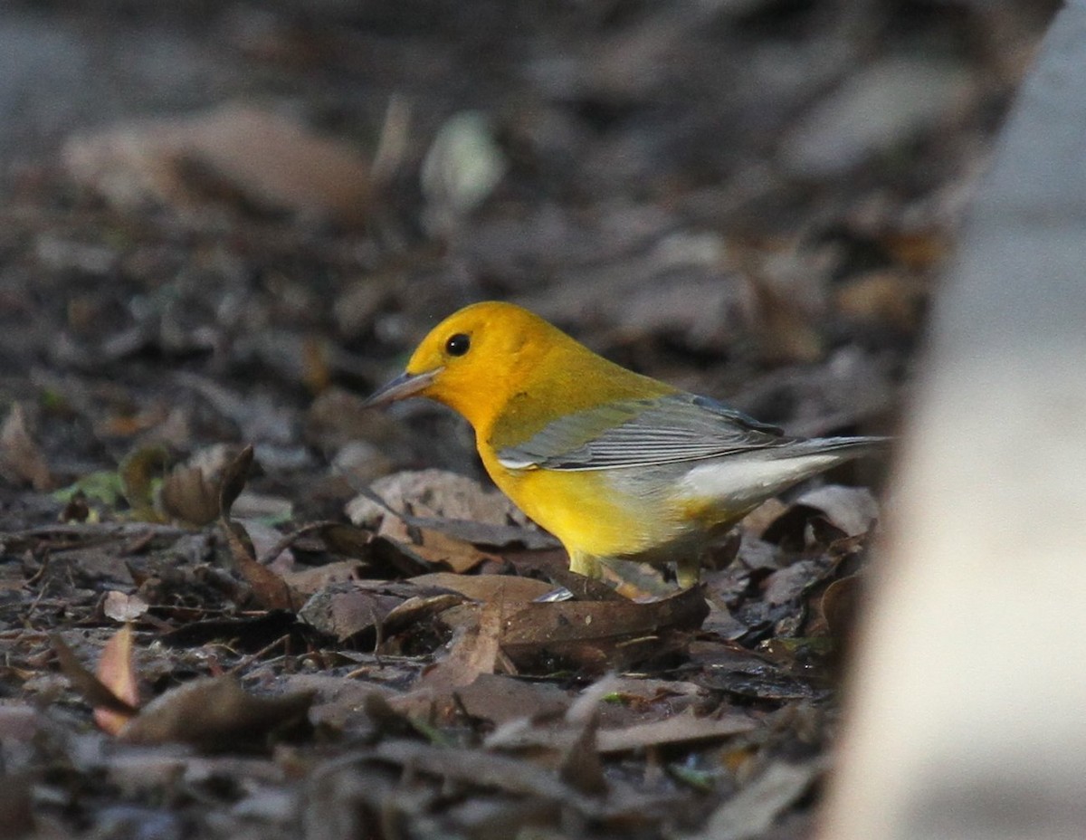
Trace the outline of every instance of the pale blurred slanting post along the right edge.
{"type": "Polygon", "coordinates": [[[1086,3],[936,308],[823,840],[1086,837],[1086,3]]]}

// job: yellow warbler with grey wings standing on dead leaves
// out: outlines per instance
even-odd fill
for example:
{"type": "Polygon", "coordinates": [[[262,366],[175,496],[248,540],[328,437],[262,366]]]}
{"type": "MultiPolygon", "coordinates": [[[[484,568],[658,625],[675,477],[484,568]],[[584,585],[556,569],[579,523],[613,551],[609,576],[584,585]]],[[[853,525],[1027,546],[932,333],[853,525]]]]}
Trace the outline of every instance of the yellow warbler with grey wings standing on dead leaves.
{"type": "Polygon", "coordinates": [[[476,303],[422,339],[367,401],[429,397],[475,428],[483,466],[557,537],[570,568],[674,561],[697,581],[714,534],[884,438],[791,438],[707,397],[627,371],[512,303],[476,303]]]}

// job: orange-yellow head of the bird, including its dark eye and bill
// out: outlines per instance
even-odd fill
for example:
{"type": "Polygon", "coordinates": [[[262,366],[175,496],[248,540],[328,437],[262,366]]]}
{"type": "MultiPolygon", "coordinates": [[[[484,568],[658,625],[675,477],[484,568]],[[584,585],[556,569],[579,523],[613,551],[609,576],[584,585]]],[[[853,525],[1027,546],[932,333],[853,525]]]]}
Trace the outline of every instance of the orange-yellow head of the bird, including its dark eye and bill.
{"type": "Polygon", "coordinates": [[[520,306],[475,303],[430,330],[405,372],[379,388],[367,404],[429,397],[463,414],[477,429],[485,427],[550,350],[571,343],[520,306]]]}

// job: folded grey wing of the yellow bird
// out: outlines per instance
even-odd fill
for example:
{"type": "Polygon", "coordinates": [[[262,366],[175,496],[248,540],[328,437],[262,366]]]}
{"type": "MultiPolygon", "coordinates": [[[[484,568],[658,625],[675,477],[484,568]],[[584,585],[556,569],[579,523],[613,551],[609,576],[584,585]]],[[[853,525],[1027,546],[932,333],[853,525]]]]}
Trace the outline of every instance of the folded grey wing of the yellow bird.
{"type": "Polygon", "coordinates": [[[505,447],[510,469],[609,469],[697,461],[787,442],[781,429],[691,393],[620,400],[568,414],[505,447]]]}

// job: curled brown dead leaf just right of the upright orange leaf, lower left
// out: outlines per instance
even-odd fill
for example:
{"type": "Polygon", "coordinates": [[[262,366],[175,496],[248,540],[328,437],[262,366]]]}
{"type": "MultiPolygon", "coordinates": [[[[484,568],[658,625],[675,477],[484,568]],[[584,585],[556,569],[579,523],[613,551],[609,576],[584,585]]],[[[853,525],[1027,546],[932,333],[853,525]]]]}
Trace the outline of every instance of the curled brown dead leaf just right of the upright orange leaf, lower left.
{"type": "Polygon", "coordinates": [[[148,703],[121,732],[129,743],[187,743],[207,752],[264,747],[268,737],[303,725],[312,691],[257,697],[230,676],[186,682],[148,703]]]}

